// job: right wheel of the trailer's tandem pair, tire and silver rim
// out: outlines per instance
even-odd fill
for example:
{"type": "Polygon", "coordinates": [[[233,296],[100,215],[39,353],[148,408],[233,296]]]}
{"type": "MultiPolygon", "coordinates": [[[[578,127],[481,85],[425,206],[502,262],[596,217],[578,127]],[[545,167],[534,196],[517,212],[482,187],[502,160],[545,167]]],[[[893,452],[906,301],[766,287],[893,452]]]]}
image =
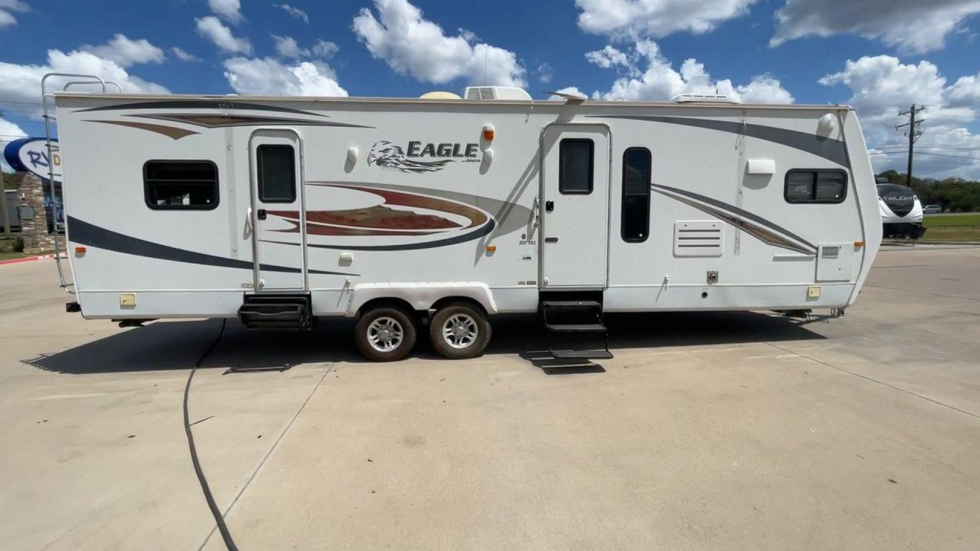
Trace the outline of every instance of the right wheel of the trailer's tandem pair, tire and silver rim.
{"type": "Polygon", "coordinates": [[[490,342],[490,323],[483,310],[466,302],[452,302],[436,311],[429,322],[432,347],[443,358],[464,360],[483,353],[490,342]],[[459,332],[447,325],[456,323],[459,332]],[[466,328],[466,332],[464,331],[466,328]]]}

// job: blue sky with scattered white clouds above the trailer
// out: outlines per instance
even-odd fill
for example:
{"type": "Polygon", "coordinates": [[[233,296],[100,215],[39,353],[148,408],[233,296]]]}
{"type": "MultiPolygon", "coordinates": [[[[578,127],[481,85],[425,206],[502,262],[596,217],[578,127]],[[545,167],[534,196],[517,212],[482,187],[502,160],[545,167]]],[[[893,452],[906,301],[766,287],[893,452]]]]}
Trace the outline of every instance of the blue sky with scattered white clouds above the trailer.
{"type": "Polygon", "coordinates": [[[905,165],[895,114],[926,104],[918,174],[980,177],[978,30],[978,0],[0,0],[0,140],[41,131],[52,68],[129,91],[353,96],[459,93],[485,70],[540,99],[850,103],[879,170],[905,165]]]}

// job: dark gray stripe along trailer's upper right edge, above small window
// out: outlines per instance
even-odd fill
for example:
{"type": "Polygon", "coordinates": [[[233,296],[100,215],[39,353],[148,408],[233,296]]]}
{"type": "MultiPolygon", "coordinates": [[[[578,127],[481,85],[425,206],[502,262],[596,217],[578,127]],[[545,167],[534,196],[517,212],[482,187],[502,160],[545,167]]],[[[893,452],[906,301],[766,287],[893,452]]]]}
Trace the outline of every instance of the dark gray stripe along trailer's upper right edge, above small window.
{"type": "Polygon", "coordinates": [[[851,168],[848,148],[843,141],[798,130],[765,125],[745,124],[743,126],[738,121],[717,121],[714,119],[692,119],[688,117],[643,117],[631,115],[588,115],[587,117],[651,121],[653,123],[665,123],[667,125],[697,126],[699,128],[710,128],[733,134],[745,134],[754,138],[799,149],[800,151],[806,151],[807,153],[823,157],[843,167],[851,168]]]}

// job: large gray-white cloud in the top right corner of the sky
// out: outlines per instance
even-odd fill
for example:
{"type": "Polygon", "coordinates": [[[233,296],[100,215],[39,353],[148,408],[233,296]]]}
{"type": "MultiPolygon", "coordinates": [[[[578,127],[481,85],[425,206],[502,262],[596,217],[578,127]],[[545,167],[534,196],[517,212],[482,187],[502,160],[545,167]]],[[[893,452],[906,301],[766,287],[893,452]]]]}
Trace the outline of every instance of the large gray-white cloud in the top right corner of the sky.
{"type": "Polygon", "coordinates": [[[971,14],[978,0],[786,0],[776,12],[773,46],[803,36],[858,34],[881,39],[904,53],[943,47],[971,14]]]}

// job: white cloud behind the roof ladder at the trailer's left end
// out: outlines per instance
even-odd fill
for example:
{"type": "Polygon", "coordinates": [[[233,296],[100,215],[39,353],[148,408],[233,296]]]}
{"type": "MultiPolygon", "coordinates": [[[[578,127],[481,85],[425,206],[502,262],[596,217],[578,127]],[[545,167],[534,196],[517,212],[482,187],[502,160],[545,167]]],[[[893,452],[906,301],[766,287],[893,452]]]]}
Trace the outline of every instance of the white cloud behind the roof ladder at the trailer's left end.
{"type": "MultiPolygon", "coordinates": [[[[129,75],[118,63],[103,59],[91,52],[72,51],[68,54],[60,50],[48,50],[47,63],[44,65],[17,65],[12,63],[0,62],[0,102],[21,102],[33,103],[40,102],[41,97],[41,77],[47,73],[73,73],[79,75],[99,75],[106,80],[119,82],[123,92],[135,93],[169,93],[169,90],[160,84],[147,82],[142,78],[129,75]]],[[[60,81],[73,80],[76,78],[61,78],[60,81]]],[[[49,80],[57,87],[58,79],[49,80]]],[[[76,89],[82,89],[77,87],[76,89]]],[[[94,89],[89,87],[88,89],[94,89]]],[[[40,108],[36,112],[30,113],[38,117],[40,108]]]]}

